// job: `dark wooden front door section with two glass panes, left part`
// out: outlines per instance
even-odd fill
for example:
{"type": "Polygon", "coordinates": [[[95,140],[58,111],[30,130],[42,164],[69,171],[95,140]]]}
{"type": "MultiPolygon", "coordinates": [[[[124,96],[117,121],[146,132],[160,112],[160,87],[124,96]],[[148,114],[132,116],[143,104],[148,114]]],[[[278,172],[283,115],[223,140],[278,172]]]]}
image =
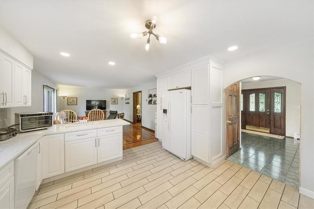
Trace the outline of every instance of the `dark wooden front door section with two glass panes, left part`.
{"type": "Polygon", "coordinates": [[[255,89],[245,93],[245,128],[270,132],[270,89],[255,89]]]}

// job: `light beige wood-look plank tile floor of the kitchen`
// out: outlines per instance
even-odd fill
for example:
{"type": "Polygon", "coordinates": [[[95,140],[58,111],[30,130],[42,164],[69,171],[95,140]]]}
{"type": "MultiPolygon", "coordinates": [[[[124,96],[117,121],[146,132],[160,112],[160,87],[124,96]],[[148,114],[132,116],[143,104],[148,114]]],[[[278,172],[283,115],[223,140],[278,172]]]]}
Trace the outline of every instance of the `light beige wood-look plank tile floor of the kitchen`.
{"type": "Polygon", "coordinates": [[[314,208],[298,189],[238,164],[183,162],[154,142],[122,161],[42,184],[28,209],[314,208]]]}

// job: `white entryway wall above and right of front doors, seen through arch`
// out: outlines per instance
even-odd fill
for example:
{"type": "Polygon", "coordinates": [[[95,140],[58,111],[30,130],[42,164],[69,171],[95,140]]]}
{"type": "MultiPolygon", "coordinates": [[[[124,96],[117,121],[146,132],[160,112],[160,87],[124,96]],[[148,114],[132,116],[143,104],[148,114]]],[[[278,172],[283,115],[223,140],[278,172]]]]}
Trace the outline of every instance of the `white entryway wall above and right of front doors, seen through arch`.
{"type": "Polygon", "coordinates": [[[242,90],[282,86],[286,87],[286,136],[293,138],[293,134],[300,134],[300,109],[294,108],[300,107],[300,83],[288,79],[250,82],[242,83],[242,90]]]}

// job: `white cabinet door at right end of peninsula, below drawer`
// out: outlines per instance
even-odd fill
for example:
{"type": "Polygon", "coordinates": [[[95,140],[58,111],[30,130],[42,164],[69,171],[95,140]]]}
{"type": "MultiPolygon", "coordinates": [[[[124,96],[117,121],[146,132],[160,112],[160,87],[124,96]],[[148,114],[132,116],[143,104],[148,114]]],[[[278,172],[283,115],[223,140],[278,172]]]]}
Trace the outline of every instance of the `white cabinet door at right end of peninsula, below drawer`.
{"type": "Polygon", "coordinates": [[[122,158],[122,133],[98,138],[98,163],[115,158],[122,158]]]}

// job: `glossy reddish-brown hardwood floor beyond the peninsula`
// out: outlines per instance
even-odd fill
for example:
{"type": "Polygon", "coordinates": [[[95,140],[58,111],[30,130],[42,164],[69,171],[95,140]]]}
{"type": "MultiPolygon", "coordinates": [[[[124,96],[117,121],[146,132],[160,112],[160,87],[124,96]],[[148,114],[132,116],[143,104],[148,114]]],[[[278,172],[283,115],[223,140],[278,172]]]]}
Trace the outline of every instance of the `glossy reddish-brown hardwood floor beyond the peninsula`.
{"type": "Polygon", "coordinates": [[[155,138],[155,132],[142,127],[141,123],[131,123],[123,126],[123,150],[156,141],[158,139],[155,138]]]}

